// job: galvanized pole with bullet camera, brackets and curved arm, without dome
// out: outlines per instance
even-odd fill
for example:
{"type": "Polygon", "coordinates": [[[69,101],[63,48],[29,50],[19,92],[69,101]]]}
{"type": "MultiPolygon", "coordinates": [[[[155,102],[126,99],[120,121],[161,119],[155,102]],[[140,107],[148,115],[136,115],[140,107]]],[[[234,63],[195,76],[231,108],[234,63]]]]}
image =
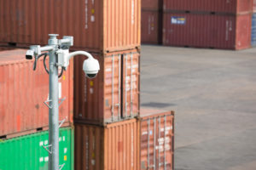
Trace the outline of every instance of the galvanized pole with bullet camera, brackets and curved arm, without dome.
{"type": "MultiPolygon", "coordinates": [[[[38,45],[31,46],[30,50],[26,52],[26,59],[32,59],[32,55],[35,59],[38,59],[43,51],[49,53],[49,70],[45,70],[49,73],[49,99],[44,102],[49,107],[49,145],[43,146],[45,150],[49,152],[49,170],[61,170],[65,164],[59,165],[59,84],[58,84],[58,67],[67,69],[69,65],[69,59],[78,54],[87,56],[90,60],[93,60],[96,64],[96,72],[99,70],[99,64],[89,53],[84,51],[76,51],[69,53],[68,48],[73,46],[73,37],[63,37],[63,39],[57,39],[57,34],[49,34],[48,45],[40,47],[38,45]],[[63,49],[62,49],[63,48],[63,49]]],[[[45,54],[44,57],[46,57],[45,54]]],[[[36,68],[36,61],[34,69],[36,68]]],[[[45,67],[45,65],[44,65],[45,67]]],[[[62,72],[61,71],[61,72],[62,72]]],[[[64,99],[62,99],[63,101],[64,99]]],[[[61,102],[62,102],[61,101],[61,102]]],[[[62,121],[61,123],[63,123],[62,121]]]]}

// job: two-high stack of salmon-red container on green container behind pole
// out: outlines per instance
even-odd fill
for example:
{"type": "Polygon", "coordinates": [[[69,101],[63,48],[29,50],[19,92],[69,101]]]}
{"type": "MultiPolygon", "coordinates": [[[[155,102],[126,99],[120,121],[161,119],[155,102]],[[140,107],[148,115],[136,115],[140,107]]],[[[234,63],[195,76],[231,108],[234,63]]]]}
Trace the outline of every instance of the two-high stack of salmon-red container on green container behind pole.
{"type": "MultiPolygon", "coordinates": [[[[48,169],[49,78],[43,59],[26,60],[24,49],[0,48],[0,169],[48,169]],[[7,50],[9,49],[9,50],[7,50]],[[8,153],[8,154],[3,154],[8,153]],[[14,163],[15,162],[15,163],[14,163]]],[[[48,59],[46,59],[48,62],[48,59]]],[[[73,62],[73,61],[71,61],[73,62]]],[[[48,65],[47,65],[48,66],[48,65]]],[[[73,66],[59,80],[60,163],[73,169],[73,66]]]]}

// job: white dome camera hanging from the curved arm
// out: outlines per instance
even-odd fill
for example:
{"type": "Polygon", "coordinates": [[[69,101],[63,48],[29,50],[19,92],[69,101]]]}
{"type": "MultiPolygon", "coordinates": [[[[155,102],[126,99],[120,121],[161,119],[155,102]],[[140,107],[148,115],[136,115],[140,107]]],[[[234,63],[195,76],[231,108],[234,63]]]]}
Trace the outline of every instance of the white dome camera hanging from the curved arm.
{"type": "Polygon", "coordinates": [[[89,58],[84,60],[83,71],[88,78],[96,77],[98,71],[100,70],[100,65],[97,59],[89,58]]]}

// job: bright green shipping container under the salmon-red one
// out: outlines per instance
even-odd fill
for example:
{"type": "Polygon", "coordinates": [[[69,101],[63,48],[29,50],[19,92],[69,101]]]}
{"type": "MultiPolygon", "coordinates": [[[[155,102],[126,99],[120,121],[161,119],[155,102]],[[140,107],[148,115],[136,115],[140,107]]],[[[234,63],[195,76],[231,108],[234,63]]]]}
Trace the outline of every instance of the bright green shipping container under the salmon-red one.
{"type": "MultiPolygon", "coordinates": [[[[60,129],[61,170],[73,170],[73,127],[60,129]]],[[[0,141],[0,170],[47,170],[48,131],[0,141]]]]}

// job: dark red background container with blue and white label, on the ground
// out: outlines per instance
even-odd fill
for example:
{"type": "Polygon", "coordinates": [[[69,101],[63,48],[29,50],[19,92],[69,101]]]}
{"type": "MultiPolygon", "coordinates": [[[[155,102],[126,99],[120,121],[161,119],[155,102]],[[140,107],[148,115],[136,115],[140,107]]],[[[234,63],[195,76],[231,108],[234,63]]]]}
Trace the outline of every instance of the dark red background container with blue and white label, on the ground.
{"type": "Polygon", "coordinates": [[[163,44],[196,48],[251,46],[252,14],[164,14],[163,44]]]}

